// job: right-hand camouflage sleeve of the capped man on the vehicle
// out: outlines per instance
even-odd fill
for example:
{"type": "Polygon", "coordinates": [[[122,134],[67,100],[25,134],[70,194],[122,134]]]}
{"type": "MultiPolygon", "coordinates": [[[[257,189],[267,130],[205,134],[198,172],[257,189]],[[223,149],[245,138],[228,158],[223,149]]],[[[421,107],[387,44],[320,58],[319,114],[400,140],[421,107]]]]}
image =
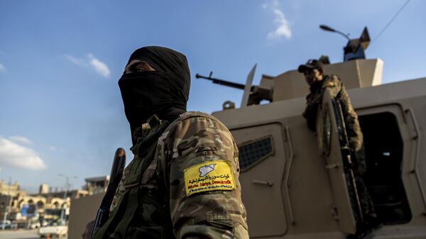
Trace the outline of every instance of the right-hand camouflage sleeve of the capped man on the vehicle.
{"type": "Polygon", "coordinates": [[[344,123],[346,126],[346,133],[348,135],[349,146],[354,152],[360,152],[363,145],[363,135],[361,127],[359,126],[358,115],[356,114],[354,107],[349,99],[348,92],[346,91],[342,82],[339,82],[339,93],[337,98],[342,106],[342,113],[344,117],[344,123]]]}

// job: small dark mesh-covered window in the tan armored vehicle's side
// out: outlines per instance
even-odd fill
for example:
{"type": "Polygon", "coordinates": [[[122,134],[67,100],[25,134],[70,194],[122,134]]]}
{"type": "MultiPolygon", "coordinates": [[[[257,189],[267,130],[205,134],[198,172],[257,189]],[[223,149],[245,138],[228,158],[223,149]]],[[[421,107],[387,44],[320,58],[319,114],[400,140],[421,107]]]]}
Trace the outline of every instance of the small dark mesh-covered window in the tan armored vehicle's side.
{"type": "Polygon", "coordinates": [[[260,138],[239,145],[239,165],[243,172],[273,154],[272,137],[260,138]]]}

